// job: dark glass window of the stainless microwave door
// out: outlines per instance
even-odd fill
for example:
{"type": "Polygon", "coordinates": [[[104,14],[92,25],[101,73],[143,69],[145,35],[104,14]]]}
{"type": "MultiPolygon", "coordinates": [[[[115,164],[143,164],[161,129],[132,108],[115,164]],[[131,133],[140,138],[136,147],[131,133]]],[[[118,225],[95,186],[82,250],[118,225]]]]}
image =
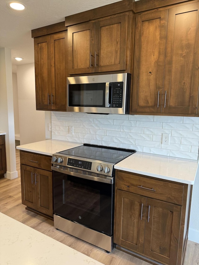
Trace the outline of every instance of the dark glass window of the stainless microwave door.
{"type": "Polygon", "coordinates": [[[68,105],[71,107],[105,107],[106,83],[69,84],[68,105]]]}

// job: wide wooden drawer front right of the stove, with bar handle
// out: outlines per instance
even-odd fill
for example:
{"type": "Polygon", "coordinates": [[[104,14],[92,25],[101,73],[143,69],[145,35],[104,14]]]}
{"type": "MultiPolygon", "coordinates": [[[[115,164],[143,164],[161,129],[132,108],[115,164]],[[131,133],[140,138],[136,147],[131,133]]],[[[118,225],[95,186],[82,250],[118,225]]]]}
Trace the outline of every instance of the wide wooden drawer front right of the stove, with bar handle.
{"type": "Polygon", "coordinates": [[[176,203],[183,203],[183,184],[151,179],[133,173],[117,171],[117,189],[126,190],[146,197],[176,203]]]}

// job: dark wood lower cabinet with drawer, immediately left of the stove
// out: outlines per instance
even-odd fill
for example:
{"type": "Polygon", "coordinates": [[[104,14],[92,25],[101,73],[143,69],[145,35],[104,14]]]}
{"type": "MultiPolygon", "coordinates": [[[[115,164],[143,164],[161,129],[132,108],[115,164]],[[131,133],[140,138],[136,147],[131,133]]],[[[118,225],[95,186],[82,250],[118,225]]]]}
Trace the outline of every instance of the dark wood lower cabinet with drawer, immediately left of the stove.
{"type": "MultiPolygon", "coordinates": [[[[35,166],[51,166],[50,157],[20,151],[21,162],[35,163],[35,166]],[[35,158],[34,158],[35,157],[35,158]],[[49,165],[48,163],[49,162],[49,165]]],[[[21,197],[26,209],[42,216],[53,218],[53,176],[52,171],[21,164],[21,197]]]]}

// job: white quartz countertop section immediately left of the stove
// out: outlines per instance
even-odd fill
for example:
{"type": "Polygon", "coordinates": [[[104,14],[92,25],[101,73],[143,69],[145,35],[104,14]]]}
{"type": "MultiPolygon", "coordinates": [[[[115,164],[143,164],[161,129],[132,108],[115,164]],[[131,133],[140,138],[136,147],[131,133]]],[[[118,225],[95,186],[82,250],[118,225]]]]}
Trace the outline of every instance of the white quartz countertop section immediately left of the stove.
{"type": "Polygon", "coordinates": [[[82,144],[49,139],[31,144],[18,145],[16,148],[23,151],[52,156],[53,153],[61,152],[80,145],[82,144]]]}

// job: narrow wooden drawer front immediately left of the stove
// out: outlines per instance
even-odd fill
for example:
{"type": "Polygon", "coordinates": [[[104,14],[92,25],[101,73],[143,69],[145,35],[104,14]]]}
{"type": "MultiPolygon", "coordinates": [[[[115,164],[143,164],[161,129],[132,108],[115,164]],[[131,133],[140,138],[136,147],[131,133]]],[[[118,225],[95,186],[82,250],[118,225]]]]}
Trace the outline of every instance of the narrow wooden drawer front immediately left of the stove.
{"type": "Polygon", "coordinates": [[[20,151],[20,163],[32,167],[51,170],[51,156],[20,151]]]}

